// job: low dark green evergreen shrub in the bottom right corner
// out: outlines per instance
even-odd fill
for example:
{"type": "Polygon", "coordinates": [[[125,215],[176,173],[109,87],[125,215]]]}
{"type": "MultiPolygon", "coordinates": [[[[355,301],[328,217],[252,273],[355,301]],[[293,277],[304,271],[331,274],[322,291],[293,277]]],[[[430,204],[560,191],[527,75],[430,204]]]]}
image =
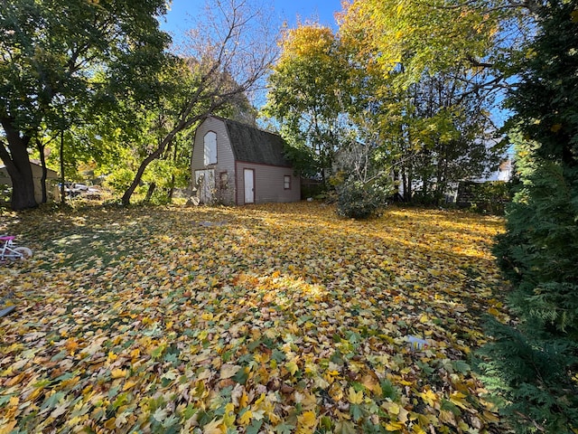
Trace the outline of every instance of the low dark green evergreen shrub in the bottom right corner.
{"type": "Polygon", "coordinates": [[[496,320],[489,321],[488,331],[492,340],[478,351],[478,368],[501,416],[517,433],[571,433],[578,396],[568,372],[578,362],[576,345],[496,320]]]}

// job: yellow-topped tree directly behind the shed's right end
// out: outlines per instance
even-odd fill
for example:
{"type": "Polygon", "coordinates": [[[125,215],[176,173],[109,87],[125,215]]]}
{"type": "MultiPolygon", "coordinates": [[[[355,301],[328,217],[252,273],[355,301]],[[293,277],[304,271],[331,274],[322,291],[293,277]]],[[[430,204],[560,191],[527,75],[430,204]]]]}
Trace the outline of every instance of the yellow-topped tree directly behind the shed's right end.
{"type": "Polygon", "coordinates": [[[294,148],[307,151],[304,172],[322,174],[344,138],[349,65],[329,27],[300,24],[284,33],[282,55],[269,78],[266,114],[294,148]]]}

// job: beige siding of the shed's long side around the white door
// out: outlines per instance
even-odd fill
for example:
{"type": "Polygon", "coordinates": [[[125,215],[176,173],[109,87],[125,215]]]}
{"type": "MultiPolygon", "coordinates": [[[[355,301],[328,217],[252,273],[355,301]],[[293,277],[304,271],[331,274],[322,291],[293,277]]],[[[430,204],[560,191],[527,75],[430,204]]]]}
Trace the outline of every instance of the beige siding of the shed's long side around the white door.
{"type": "Polygon", "coordinates": [[[244,169],[255,171],[255,203],[297,202],[301,199],[300,178],[294,175],[293,168],[237,162],[236,184],[239,205],[245,203],[244,169]],[[289,190],[284,189],[284,175],[291,176],[289,190]]]}

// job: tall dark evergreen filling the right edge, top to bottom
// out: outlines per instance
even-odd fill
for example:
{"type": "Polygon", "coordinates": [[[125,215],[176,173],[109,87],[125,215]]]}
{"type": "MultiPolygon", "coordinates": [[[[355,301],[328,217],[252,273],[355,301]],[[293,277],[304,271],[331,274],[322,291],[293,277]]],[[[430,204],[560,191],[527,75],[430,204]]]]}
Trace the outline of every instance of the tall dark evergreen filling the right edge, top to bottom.
{"type": "Polygon", "coordinates": [[[508,99],[520,183],[496,253],[515,327],[482,363],[517,432],[578,429],[578,2],[551,0],[508,99]]]}

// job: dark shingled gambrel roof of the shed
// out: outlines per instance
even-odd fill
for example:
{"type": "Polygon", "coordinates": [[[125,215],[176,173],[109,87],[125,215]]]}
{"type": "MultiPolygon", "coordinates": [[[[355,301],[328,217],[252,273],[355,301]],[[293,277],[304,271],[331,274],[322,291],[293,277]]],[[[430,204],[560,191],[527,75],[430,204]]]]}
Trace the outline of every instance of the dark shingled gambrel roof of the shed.
{"type": "Polygon", "coordinates": [[[234,120],[220,119],[227,127],[236,160],[262,165],[292,166],[284,157],[284,140],[281,136],[234,120]]]}

